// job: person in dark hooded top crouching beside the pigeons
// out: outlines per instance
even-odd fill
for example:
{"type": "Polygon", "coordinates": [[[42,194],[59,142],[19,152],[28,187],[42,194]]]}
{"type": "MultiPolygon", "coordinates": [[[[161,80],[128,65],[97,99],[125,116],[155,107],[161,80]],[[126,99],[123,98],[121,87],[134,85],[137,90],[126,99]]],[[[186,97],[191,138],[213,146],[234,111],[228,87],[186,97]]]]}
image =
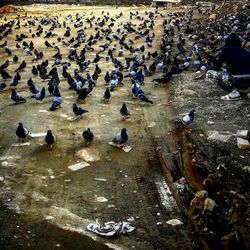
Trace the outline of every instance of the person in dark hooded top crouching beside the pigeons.
{"type": "Polygon", "coordinates": [[[213,70],[207,72],[207,77],[216,82],[229,94],[222,100],[239,100],[250,92],[250,52],[241,47],[241,39],[231,33],[225,40],[225,46],[213,65],[213,70]],[[226,64],[226,71],[221,67],[226,64]]]}

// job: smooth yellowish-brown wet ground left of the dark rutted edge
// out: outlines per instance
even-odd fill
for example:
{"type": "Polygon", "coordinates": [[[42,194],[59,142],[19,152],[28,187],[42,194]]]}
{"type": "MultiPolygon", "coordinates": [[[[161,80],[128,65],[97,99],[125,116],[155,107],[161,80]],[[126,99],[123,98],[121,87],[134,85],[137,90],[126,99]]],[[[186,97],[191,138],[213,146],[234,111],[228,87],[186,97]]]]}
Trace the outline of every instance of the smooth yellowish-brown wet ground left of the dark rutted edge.
{"type": "MultiPolygon", "coordinates": [[[[58,8],[61,20],[68,14],[79,12],[88,16],[93,11],[93,7],[76,9],[49,5],[24,7],[18,14],[22,18],[25,14],[25,19],[21,21],[23,24],[29,16],[56,15],[58,8]]],[[[144,7],[94,7],[95,15],[100,16],[103,9],[109,11],[111,16],[123,11],[121,21],[128,19],[130,11],[144,13],[144,7]]],[[[8,19],[14,17],[7,16],[8,19]]],[[[162,32],[160,16],[155,22],[156,38],[152,51],[159,48],[158,39],[162,32]]],[[[73,24],[69,25],[73,27],[73,24]]],[[[81,104],[89,112],[82,119],[73,121],[71,108],[77,96],[68,89],[65,80],[60,83],[63,96],[61,109],[49,111],[50,96],[42,104],[30,98],[26,82],[31,76],[32,57],[18,51],[14,41],[15,35],[22,32],[28,34],[27,29],[22,27],[8,36],[9,47],[19,56],[18,63],[11,60],[8,72],[13,74],[22,59],[27,61],[27,67],[20,72],[22,79],[17,88],[27,102],[14,105],[9,98],[10,90],[1,93],[0,102],[0,197],[1,224],[4,225],[1,227],[1,249],[106,249],[107,245],[117,249],[194,249],[198,246],[190,224],[182,217],[165,182],[156,154],[155,140],[165,144],[166,134],[172,126],[168,88],[156,87],[151,82],[152,78],[146,78],[143,89],[154,104],[144,105],[132,98],[130,80],[125,78],[124,86],[118,87],[112,93],[110,102],[105,104],[102,100],[106,88],[103,77],[112,66],[101,60],[98,65],[102,73],[97,85],[86,103],[81,104]],[[119,113],[123,102],[131,112],[130,118],[125,121],[119,113]],[[12,144],[17,142],[15,130],[19,121],[32,133],[52,129],[57,137],[53,150],[44,145],[44,138],[30,138],[29,145],[13,147],[12,144]],[[86,149],[81,137],[86,127],[91,128],[95,137],[83,156],[94,154],[97,160],[89,162],[90,166],[86,168],[71,171],[68,166],[85,159],[79,157],[79,151],[86,149]],[[108,145],[123,127],[128,129],[128,144],[133,147],[129,153],[108,145]],[[86,232],[86,225],[96,219],[103,222],[130,221],[136,230],[117,239],[96,237],[86,232]],[[184,224],[177,227],[166,224],[170,219],[179,219],[184,224]],[[99,242],[106,245],[101,247],[99,242]]],[[[87,29],[86,32],[91,34],[93,30],[87,29]]],[[[63,31],[57,30],[57,33],[62,35],[63,31]]],[[[51,65],[56,50],[46,49],[43,38],[31,39],[29,34],[26,41],[31,40],[35,48],[44,52],[44,58],[49,59],[51,65]]],[[[49,40],[50,43],[53,41],[56,42],[57,37],[49,40]]],[[[63,56],[67,55],[68,49],[62,49],[63,56]]],[[[0,53],[1,62],[4,62],[8,57],[2,50],[0,53]]],[[[86,55],[94,58],[94,52],[87,52],[86,55]]],[[[89,72],[93,73],[93,69],[93,66],[89,67],[89,72]]],[[[58,71],[60,74],[60,67],[58,71]]],[[[160,72],[155,74],[160,75],[160,72]]],[[[47,84],[39,77],[33,77],[33,80],[39,88],[47,84]]],[[[172,143],[168,141],[167,144],[172,143]]]]}

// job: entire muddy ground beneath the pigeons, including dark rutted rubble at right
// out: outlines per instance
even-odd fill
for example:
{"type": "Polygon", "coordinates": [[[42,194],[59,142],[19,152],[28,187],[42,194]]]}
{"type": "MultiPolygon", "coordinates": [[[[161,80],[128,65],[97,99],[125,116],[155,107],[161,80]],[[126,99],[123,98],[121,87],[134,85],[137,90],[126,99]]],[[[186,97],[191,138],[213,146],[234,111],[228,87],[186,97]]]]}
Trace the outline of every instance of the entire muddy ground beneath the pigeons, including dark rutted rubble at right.
{"type": "MultiPolygon", "coordinates": [[[[111,16],[122,11],[121,21],[125,21],[130,11],[138,10],[144,15],[145,7],[35,5],[23,7],[16,14],[29,18],[60,13],[62,20],[76,12],[88,16],[93,10],[96,16],[102,10],[109,11],[111,16]]],[[[12,19],[16,14],[4,17],[12,19]]],[[[3,17],[0,21],[3,22],[3,17]]],[[[72,23],[69,25],[73,27],[72,23]]],[[[159,49],[162,35],[159,15],[154,30],[156,38],[151,51],[159,49]]],[[[1,249],[249,248],[249,151],[237,148],[235,136],[230,136],[227,142],[221,142],[218,136],[208,140],[213,131],[235,133],[238,129],[249,129],[249,100],[221,102],[221,90],[204,79],[195,81],[191,69],[175,76],[167,86],[152,84],[152,79],[161,72],[147,77],[143,90],[154,101],[153,105],[132,98],[128,78],[124,79],[124,86],[112,93],[110,103],[105,104],[103,77],[112,66],[101,60],[98,65],[102,73],[97,85],[86,103],[81,104],[89,112],[83,119],[72,121],[71,106],[76,95],[65,80],[60,83],[61,109],[49,111],[50,96],[42,104],[30,98],[26,82],[31,75],[32,57],[17,50],[14,41],[15,35],[22,32],[28,34],[27,28],[14,30],[8,36],[9,47],[20,57],[16,64],[11,61],[8,72],[13,74],[21,58],[28,62],[17,88],[27,102],[13,105],[10,90],[0,93],[1,249]],[[123,102],[131,111],[125,121],[119,114],[123,102]],[[192,108],[196,109],[196,117],[190,133],[177,128],[174,121],[192,108]],[[53,150],[48,150],[43,138],[29,139],[28,146],[13,147],[19,121],[32,132],[51,128],[57,136],[53,150]],[[86,149],[81,137],[86,127],[95,135],[87,153],[99,159],[74,172],[68,166],[83,161],[77,152],[86,149]],[[128,144],[133,147],[129,153],[107,144],[123,127],[128,129],[128,144]],[[197,206],[190,206],[195,193],[203,189],[216,203],[213,211],[204,211],[203,198],[197,206]],[[86,231],[86,225],[96,219],[130,221],[136,230],[115,239],[96,237],[86,231]],[[183,224],[171,226],[166,223],[170,219],[179,219],[183,224]]],[[[93,30],[88,28],[86,32],[91,34],[93,30]]],[[[62,35],[63,31],[57,33],[62,35]]],[[[38,50],[43,50],[51,66],[56,50],[45,49],[42,38],[31,39],[29,35],[26,40],[32,40],[38,50]]],[[[49,41],[57,42],[57,37],[49,41]]],[[[143,39],[138,41],[141,43],[143,39]]],[[[68,50],[63,47],[63,56],[68,50]]],[[[87,55],[94,58],[94,52],[87,55]]],[[[2,64],[8,57],[2,50],[0,56],[2,64]]],[[[90,66],[89,72],[93,70],[90,66]]],[[[39,77],[33,79],[39,87],[47,84],[39,77]]]]}

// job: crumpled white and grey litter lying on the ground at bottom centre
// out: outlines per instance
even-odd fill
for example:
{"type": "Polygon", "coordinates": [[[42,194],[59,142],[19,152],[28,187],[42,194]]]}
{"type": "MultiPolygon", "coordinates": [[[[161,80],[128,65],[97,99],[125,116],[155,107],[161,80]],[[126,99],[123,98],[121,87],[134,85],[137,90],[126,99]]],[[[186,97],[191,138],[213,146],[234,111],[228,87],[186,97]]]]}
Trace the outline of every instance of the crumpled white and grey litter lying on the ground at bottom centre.
{"type": "Polygon", "coordinates": [[[87,229],[101,236],[112,237],[130,233],[135,230],[135,227],[132,227],[128,222],[116,223],[114,221],[109,221],[104,223],[104,225],[101,225],[98,221],[96,221],[96,224],[90,223],[87,226],[87,229]]]}

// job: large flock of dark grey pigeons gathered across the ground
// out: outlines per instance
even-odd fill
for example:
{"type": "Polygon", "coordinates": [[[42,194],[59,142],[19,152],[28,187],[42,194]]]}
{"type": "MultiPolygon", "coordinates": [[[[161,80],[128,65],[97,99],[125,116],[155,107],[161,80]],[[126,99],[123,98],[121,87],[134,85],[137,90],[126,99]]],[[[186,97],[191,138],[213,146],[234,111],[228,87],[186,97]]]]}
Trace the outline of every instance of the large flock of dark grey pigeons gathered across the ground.
{"type": "MultiPolygon", "coordinates": [[[[153,82],[164,85],[174,75],[185,70],[196,71],[201,67],[209,69],[214,60],[213,55],[223,44],[225,36],[235,29],[244,30],[247,19],[246,15],[238,13],[234,17],[225,15],[221,20],[211,19],[202,23],[194,20],[193,16],[194,9],[169,13],[154,9],[142,13],[130,12],[125,21],[123,13],[118,11],[114,16],[102,11],[99,17],[93,12],[89,15],[81,12],[53,17],[22,18],[18,15],[11,20],[5,17],[0,25],[0,50],[7,59],[0,65],[0,92],[11,89],[10,98],[14,104],[25,103],[27,98],[20,95],[18,88],[22,72],[27,71],[27,61],[31,61],[27,90],[37,102],[43,102],[50,95],[50,111],[55,111],[62,104],[61,93],[65,88],[65,84],[61,84],[62,80],[67,82],[66,88],[76,95],[76,101],[72,104],[75,116],[82,117],[88,112],[79,103],[86,102],[90,93],[94,95],[97,85],[104,83],[103,101],[108,103],[118,87],[124,86],[126,78],[131,83],[131,96],[139,102],[153,104],[149,95],[143,91],[146,77],[161,72],[162,76],[154,78],[153,82]],[[155,40],[157,19],[162,22],[162,38],[159,41],[155,40]],[[20,33],[20,30],[26,32],[20,33]],[[13,34],[15,47],[9,46],[9,36],[13,34]],[[34,38],[44,41],[44,46],[37,46],[34,38]],[[155,49],[157,46],[160,49],[155,49]],[[45,58],[42,49],[50,49],[54,54],[45,58]],[[17,51],[19,57],[16,55],[17,51]],[[90,57],[91,54],[94,57],[90,57]],[[100,62],[104,67],[100,68],[100,62]],[[17,65],[14,72],[8,72],[10,64],[17,65]],[[105,64],[112,66],[106,67],[105,64]],[[90,68],[94,68],[93,74],[90,73],[90,68]],[[100,79],[104,70],[104,77],[100,79]],[[46,84],[38,88],[33,78],[46,84]]],[[[129,116],[125,102],[121,104],[120,113],[123,119],[129,116]]],[[[191,110],[184,118],[176,121],[176,124],[182,124],[188,129],[188,124],[193,119],[194,110],[191,110]]],[[[19,123],[16,135],[25,139],[29,131],[19,123]]],[[[82,135],[87,144],[94,137],[90,128],[84,130],[82,135]]],[[[127,140],[127,129],[123,128],[113,142],[124,144],[127,140]]],[[[55,141],[55,135],[48,130],[45,142],[51,148],[55,141]]]]}

